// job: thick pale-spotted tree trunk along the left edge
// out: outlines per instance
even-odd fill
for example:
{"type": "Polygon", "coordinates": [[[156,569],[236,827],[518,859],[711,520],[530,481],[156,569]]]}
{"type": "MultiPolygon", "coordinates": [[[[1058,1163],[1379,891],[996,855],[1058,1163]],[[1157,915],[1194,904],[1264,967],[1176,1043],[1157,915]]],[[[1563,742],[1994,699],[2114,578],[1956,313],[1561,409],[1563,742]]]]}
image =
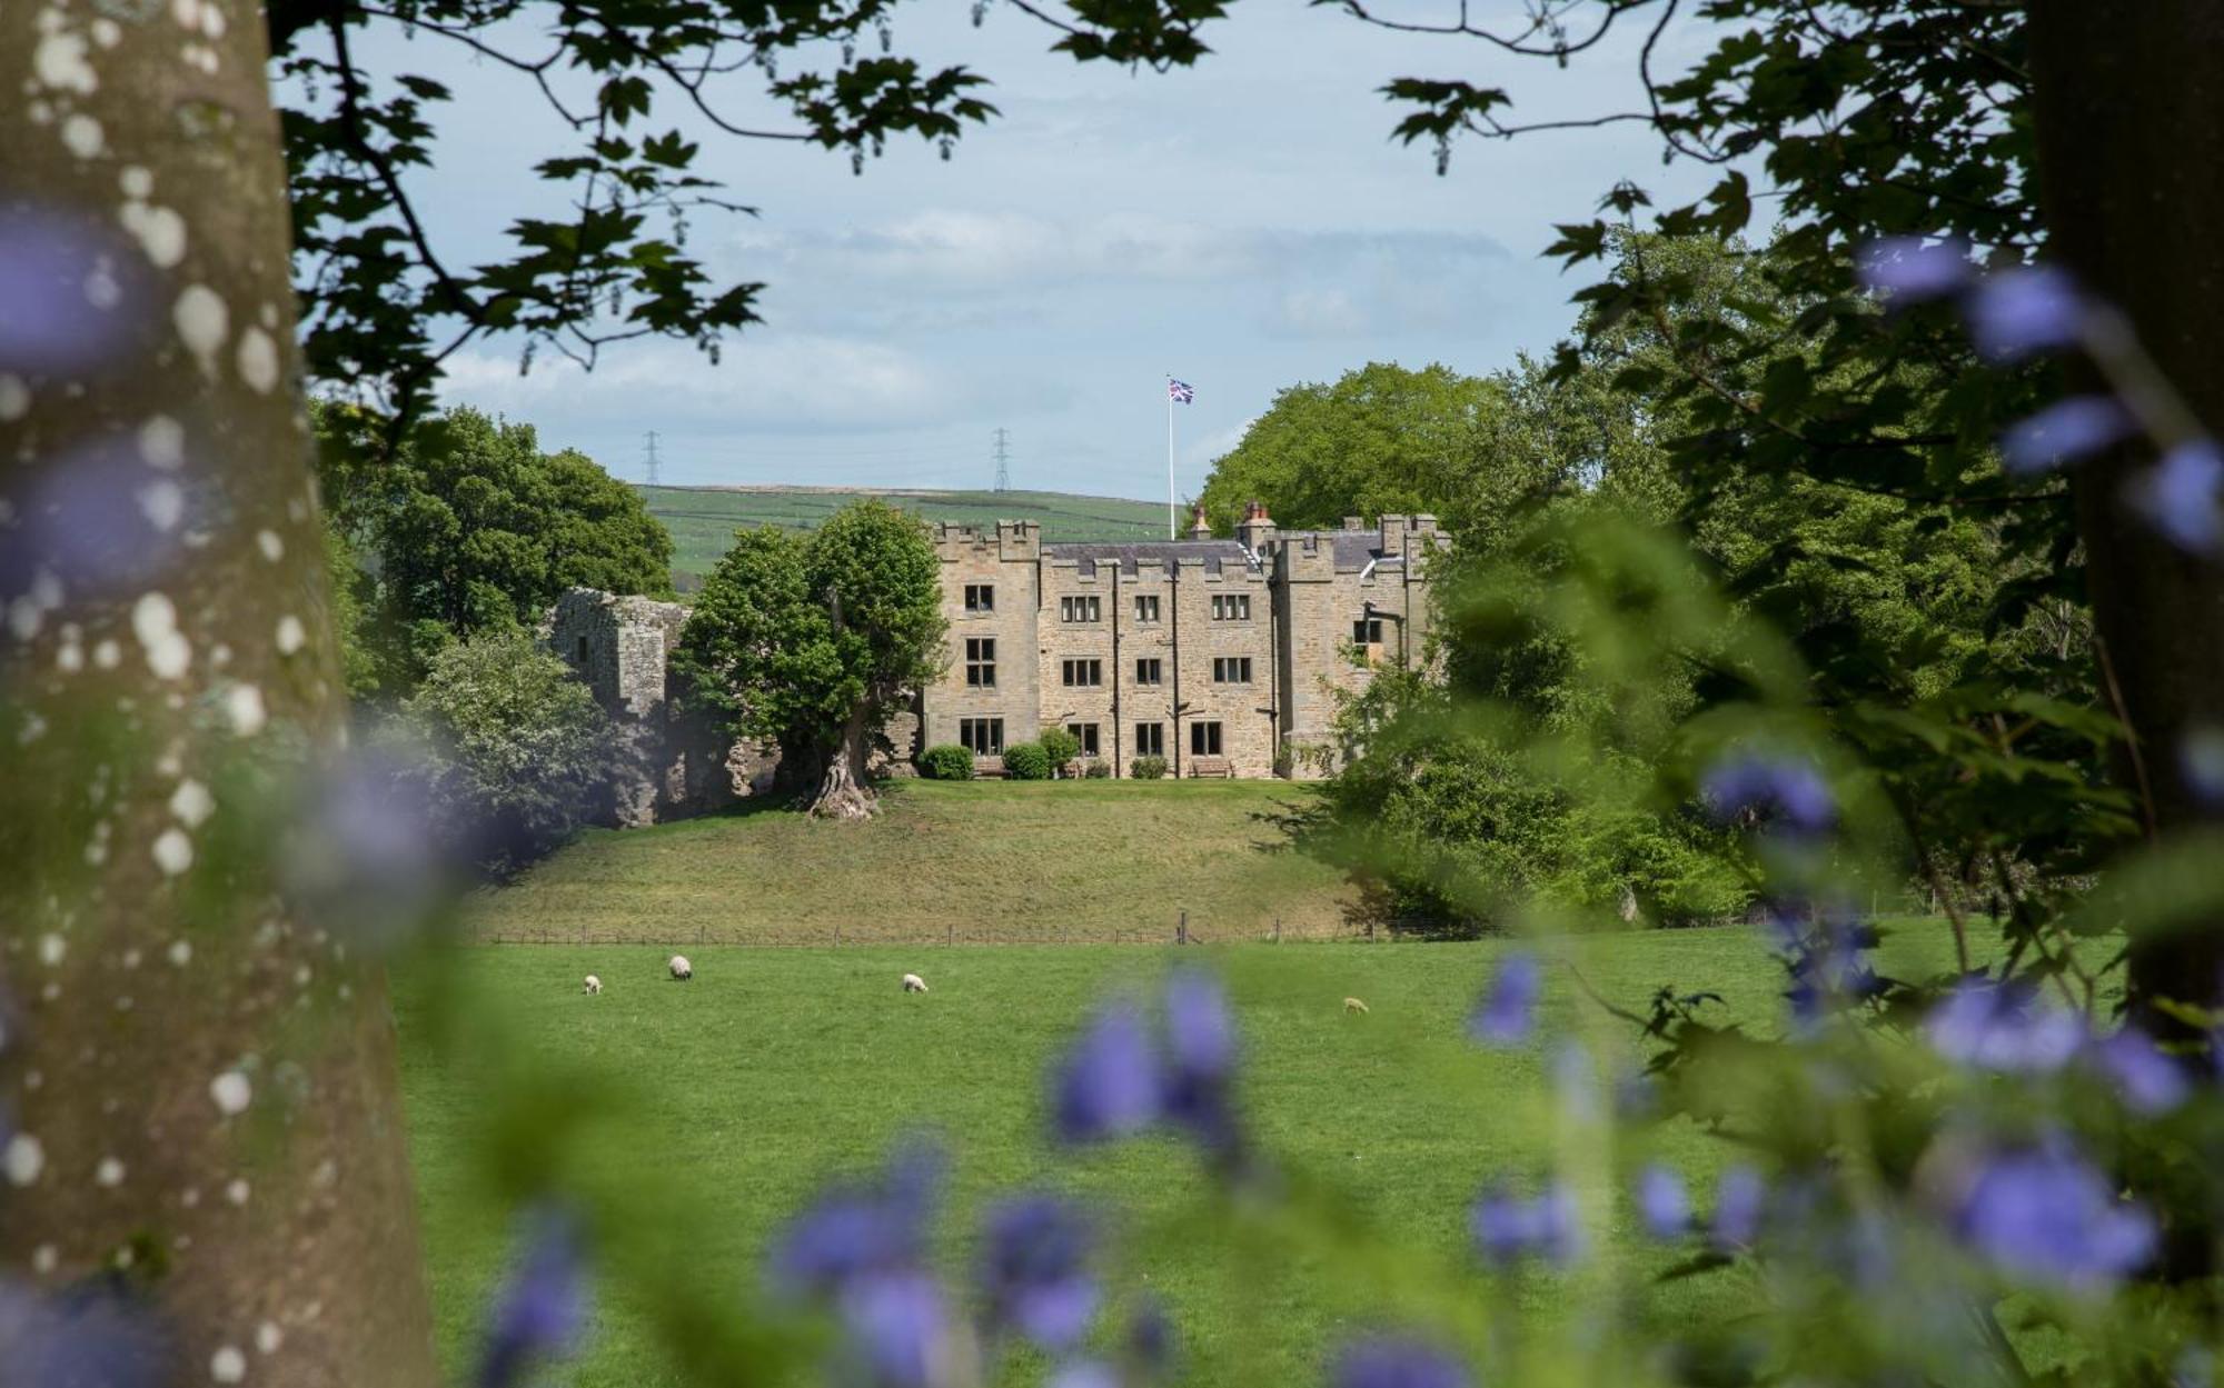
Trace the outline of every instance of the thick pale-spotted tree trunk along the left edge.
{"type": "Polygon", "coordinates": [[[345,703],[265,58],[0,4],[0,1272],[122,1268],[160,1381],[429,1388],[383,981],[269,854],[345,703]]]}

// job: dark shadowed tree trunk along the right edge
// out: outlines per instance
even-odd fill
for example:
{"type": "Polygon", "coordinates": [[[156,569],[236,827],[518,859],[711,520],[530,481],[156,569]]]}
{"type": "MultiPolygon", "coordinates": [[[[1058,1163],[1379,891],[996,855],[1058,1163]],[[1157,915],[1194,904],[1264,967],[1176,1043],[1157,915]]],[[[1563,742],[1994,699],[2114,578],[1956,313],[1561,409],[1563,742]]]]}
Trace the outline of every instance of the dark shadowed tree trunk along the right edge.
{"type": "MultiPolygon", "coordinates": [[[[2035,0],[2031,69],[2053,254],[2131,316],[2202,425],[2224,432],[2224,7],[2035,0]]],[[[2224,727],[2224,567],[2177,552],[2126,509],[2124,485],[2148,463],[2151,449],[2122,449],[2084,465],[2073,492],[2102,656],[2168,834],[2220,819],[2180,747],[2195,727],[2224,727]]],[[[2224,921],[2133,939],[2142,1021],[2177,1032],[2155,1001],[2215,1003],[2220,988],[2224,921]]]]}

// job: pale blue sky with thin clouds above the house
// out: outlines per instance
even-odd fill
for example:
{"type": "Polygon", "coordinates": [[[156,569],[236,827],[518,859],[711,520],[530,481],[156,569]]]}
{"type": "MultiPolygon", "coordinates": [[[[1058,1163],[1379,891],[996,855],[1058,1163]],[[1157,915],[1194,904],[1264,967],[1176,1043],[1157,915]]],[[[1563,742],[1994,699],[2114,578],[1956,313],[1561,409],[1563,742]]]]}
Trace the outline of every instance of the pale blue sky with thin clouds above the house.
{"type": "MultiPolygon", "coordinates": [[[[1552,225],[1592,216],[1619,178],[1657,198],[1708,182],[1664,167],[1637,122],[1466,140],[1443,178],[1426,145],[1390,140],[1399,113],[1377,89],[1394,76],[1506,85],[1528,120],[1630,109],[1635,36],[1555,69],[1297,0],[1234,13],[1197,69],[1130,73],[1050,53],[1056,36],[1014,9],[974,29],[967,0],[907,4],[896,49],[990,76],[1001,116],[947,162],[892,142],[863,176],[845,153],[703,131],[701,169],[758,216],[701,214],[689,249],[767,282],[765,323],[716,365],[645,340],[592,374],[540,356],[520,376],[494,340],[449,363],[445,398],[629,480],[654,429],[665,483],[987,487],[1005,429],[1014,487],[1163,498],[1172,374],[1197,391],[1172,407],[1190,496],[1279,389],[1370,360],[1483,374],[1548,351],[1592,278],[1541,258],[1552,225]]],[[[1664,60],[1699,38],[1672,33],[1664,60]]],[[[565,136],[512,73],[429,38],[365,56],[456,91],[411,194],[460,258],[554,207],[532,162],[565,136]]],[[[732,111],[770,120],[734,80],[732,111]]]]}

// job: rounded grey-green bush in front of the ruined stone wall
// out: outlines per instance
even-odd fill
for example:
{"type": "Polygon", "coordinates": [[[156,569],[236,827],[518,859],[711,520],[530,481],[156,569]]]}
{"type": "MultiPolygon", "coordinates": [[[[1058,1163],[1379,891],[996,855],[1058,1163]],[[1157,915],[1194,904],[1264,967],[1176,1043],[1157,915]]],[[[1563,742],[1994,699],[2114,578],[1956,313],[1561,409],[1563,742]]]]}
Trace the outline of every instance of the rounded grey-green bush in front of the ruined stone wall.
{"type": "Polygon", "coordinates": [[[449,643],[389,734],[420,743],[427,814],[489,872],[569,839],[618,770],[609,716],[523,632],[449,643]]]}

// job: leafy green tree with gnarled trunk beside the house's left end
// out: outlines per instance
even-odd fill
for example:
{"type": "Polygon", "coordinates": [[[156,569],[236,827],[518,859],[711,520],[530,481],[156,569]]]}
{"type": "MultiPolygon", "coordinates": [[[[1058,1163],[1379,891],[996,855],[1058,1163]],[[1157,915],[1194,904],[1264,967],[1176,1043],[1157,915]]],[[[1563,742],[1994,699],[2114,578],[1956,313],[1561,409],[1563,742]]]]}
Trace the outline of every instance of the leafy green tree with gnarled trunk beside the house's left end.
{"type": "Polygon", "coordinates": [[[734,736],[796,759],[812,814],[865,819],[874,745],[941,672],[945,627],[925,525],[870,498],[807,536],[738,532],[672,663],[734,736]]]}

